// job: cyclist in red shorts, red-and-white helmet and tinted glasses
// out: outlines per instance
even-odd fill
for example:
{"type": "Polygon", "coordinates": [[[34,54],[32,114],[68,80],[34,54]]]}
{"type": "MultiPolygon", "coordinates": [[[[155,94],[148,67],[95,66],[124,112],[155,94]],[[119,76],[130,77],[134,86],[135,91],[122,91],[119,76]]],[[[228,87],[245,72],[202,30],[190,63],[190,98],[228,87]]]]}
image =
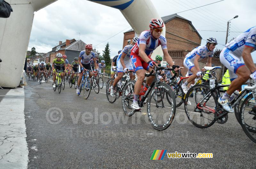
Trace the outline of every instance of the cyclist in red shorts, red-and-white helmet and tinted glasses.
{"type": "MultiPolygon", "coordinates": [[[[134,110],[141,109],[138,105],[138,98],[141,84],[145,78],[143,69],[150,72],[153,67],[157,66],[156,62],[148,56],[152,54],[153,50],[161,45],[167,63],[172,65],[172,68],[174,68],[175,71],[178,71],[180,69],[179,66],[174,65],[172,58],[170,57],[167,50],[166,38],[161,35],[164,27],[164,22],[161,19],[151,19],[151,21],[149,22],[149,27],[150,30],[143,31],[140,34],[139,40],[132,47],[131,52],[133,69],[137,74],[137,81],[134,86],[134,98],[131,106],[134,110]]],[[[151,84],[153,80],[153,76],[147,78],[145,90],[147,90],[148,85],[151,84]]]]}

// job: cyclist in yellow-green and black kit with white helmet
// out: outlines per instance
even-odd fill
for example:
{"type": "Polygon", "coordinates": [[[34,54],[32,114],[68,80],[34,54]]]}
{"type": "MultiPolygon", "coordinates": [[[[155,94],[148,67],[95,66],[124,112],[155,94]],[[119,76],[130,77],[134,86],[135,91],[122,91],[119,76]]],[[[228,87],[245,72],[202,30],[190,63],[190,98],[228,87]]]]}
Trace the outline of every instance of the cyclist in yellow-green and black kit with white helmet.
{"type": "MultiPolygon", "coordinates": [[[[56,58],[52,61],[52,69],[53,69],[53,88],[56,88],[56,71],[66,71],[67,70],[67,66],[65,64],[65,61],[62,59],[62,54],[61,53],[57,53],[56,54],[56,58]],[[63,70],[64,68],[64,70],[63,70]]],[[[60,76],[62,79],[64,79],[64,73],[60,73],[60,76]]]]}

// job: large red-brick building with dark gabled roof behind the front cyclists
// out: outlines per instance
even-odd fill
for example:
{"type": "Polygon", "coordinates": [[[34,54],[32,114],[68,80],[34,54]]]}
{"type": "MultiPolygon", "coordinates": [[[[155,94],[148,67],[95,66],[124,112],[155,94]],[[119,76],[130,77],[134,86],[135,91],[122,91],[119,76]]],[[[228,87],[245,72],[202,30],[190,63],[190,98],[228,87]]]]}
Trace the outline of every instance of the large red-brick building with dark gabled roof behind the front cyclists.
{"type": "MultiPolygon", "coordinates": [[[[167,39],[168,52],[175,65],[184,67],[183,60],[185,56],[188,52],[201,45],[202,37],[196,31],[191,21],[177,14],[164,16],[162,20],[166,28],[165,38],[167,39]]],[[[135,32],[132,29],[124,32],[123,48],[132,42],[134,36],[135,32]]],[[[200,68],[205,66],[206,61],[206,59],[200,61],[200,68]]],[[[212,63],[216,66],[221,65],[220,60],[217,58],[212,58],[212,63]]],[[[165,64],[166,62],[163,61],[163,65],[165,64]]],[[[182,69],[182,75],[185,75],[187,71],[186,68],[182,69]]],[[[218,78],[220,78],[220,75],[218,75],[218,78]]]]}

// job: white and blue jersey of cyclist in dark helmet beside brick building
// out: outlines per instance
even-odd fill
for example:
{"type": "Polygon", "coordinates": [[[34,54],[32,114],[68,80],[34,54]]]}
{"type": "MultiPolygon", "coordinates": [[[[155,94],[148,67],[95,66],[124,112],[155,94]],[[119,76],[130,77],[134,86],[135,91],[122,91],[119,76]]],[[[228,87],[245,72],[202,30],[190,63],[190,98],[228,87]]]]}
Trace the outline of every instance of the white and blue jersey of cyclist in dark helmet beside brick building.
{"type": "Polygon", "coordinates": [[[198,46],[197,48],[193,49],[191,52],[189,52],[186,55],[186,59],[189,59],[190,61],[194,62],[196,55],[199,55],[200,56],[199,60],[202,60],[208,56],[212,57],[213,51],[208,50],[206,45],[198,46]]]}

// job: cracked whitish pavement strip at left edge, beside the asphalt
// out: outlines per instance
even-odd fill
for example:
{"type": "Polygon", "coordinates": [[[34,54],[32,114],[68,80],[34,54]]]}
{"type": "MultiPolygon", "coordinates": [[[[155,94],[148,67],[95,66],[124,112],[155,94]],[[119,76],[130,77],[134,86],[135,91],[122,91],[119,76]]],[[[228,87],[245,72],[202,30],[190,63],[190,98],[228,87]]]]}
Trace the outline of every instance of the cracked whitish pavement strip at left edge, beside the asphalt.
{"type": "Polygon", "coordinates": [[[24,88],[4,89],[0,102],[0,168],[28,166],[28,146],[24,115],[24,88]]]}

